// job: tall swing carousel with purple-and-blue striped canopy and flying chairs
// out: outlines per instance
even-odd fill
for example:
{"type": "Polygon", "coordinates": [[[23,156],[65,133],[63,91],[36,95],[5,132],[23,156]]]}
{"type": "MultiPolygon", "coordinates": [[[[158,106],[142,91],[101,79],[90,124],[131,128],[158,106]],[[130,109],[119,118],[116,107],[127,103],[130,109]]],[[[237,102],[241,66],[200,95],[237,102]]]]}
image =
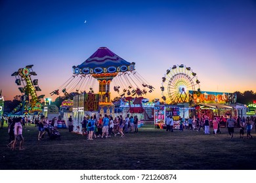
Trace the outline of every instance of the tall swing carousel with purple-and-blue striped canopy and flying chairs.
{"type": "Polygon", "coordinates": [[[135,71],[135,63],[129,63],[106,47],[100,47],[81,65],[73,66],[73,74],[51,95],[76,95],[94,93],[98,81],[100,103],[110,103],[110,83],[114,83],[114,92],[119,97],[141,97],[151,93],[154,87],[135,71]]]}

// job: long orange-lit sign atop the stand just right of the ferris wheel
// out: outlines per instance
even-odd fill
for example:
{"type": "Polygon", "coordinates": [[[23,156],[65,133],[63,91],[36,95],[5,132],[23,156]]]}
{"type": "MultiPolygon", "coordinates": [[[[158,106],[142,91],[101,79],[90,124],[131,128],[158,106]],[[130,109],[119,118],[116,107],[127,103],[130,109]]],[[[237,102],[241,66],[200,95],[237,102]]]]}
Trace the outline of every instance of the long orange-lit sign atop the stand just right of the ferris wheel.
{"type": "Polygon", "coordinates": [[[198,92],[188,91],[189,101],[191,104],[198,103],[236,103],[235,93],[224,93],[224,92],[198,92]]]}

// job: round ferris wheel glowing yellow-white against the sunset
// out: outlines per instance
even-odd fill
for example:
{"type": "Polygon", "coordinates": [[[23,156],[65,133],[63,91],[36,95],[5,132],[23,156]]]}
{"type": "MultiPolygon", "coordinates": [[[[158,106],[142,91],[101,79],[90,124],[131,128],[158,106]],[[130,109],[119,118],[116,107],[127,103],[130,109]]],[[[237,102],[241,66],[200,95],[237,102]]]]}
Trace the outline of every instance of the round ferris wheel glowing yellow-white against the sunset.
{"type": "Polygon", "coordinates": [[[200,81],[196,73],[186,65],[173,65],[162,78],[162,99],[167,104],[188,103],[188,91],[200,91],[200,81]]]}

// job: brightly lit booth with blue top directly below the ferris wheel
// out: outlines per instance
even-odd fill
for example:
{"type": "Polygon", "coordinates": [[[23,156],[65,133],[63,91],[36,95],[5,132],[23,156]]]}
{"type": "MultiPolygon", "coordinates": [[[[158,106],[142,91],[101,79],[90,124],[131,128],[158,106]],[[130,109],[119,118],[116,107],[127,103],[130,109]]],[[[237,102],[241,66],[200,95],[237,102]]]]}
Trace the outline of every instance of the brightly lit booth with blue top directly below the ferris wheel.
{"type": "MultiPolygon", "coordinates": [[[[156,128],[165,129],[165,119],[167,116],[173,116],[174,125],[179,124],[181,112],[184,105],[155,105],[154,107],[154,124],[156,128]]],[[[175,128],[175,127],[174,127],[175,128]]]]}

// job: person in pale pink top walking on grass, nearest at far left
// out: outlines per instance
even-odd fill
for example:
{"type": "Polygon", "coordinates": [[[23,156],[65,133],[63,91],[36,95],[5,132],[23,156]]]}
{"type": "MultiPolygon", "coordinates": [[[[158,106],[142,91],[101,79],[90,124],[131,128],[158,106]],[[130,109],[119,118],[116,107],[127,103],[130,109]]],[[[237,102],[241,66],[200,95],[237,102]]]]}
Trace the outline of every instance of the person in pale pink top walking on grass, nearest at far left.
{"type": "Polygon", "coordinates": [[[20,148],[19,150],[24,150],[23,144],[24,144],[24,138],[22,136],[22,118],[19,117],[14,125],[14,135],[15,139],[12,144],[12,150],[15,150],[16,142],[20,141],[20,148]]]}

